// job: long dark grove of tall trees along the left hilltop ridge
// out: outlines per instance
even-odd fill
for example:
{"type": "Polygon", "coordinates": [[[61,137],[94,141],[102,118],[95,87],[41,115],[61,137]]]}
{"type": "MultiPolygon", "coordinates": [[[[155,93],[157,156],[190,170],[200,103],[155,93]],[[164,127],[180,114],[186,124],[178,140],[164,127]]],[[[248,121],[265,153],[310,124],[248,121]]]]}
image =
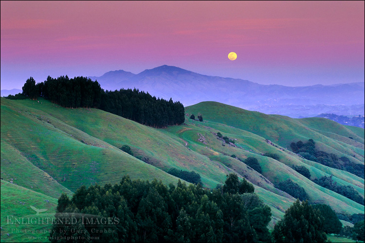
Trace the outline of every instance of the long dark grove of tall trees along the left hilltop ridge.
{"type": "Polygon", "coordinates": [[[48,76],[37,85],[30,77],[22,89],[22,94],[30,99],[44,97],[64,107],[98,108],[152,127],[178,125],[185,121],[184,106],[180,102],[156,99],[138,89],[104,91],[97,81],[82,76],[73,79],[67,75],[56,79],[48,76]]]}

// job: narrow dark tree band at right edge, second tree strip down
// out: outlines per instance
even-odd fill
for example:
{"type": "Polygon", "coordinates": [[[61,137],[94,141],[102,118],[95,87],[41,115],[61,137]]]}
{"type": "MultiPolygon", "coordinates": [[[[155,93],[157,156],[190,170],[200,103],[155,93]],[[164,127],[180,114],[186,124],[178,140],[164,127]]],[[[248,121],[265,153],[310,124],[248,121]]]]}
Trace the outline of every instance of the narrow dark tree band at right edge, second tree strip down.
{"type": "Polygon", "coordinates": [[[331,176],[325,175],[319,179],[314,179],[313,182],[320,185],[321,187],[337,192],[338,194],[341,194],[347,197],[348,199],[351,199],[352,201],[355,201],[361,205],[365,205],[364,198],[359,194],[358,191],[356,191],[351,186],[337,185],[337,182],[332,180],[332,175],[331,176]]]}

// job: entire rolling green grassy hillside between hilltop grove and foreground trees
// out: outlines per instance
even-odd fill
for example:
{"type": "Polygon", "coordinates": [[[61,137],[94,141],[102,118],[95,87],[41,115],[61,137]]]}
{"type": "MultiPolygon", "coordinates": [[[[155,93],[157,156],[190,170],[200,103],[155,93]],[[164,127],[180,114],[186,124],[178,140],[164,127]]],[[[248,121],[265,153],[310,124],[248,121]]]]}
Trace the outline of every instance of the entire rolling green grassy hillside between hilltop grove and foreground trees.
{"type": "MultiPolygon", "coordinates": [[[[199,173],[205,188],[223,184],[229,173],[246,178],[272,209],[270,227],[295,201],[276,188],[286,179],[303,187],[311,203],[325,203],[347,215],[364,213],[363,205],[310,180],[332,175],[338,185],[351,186],[364,197],[364,179],[288,150],[293,141],[314,139],[321,150],[364,164],[364,129],[327,119],[265,115],[216,102],[185,107],[185,113],[182,125],[155,129],[99,109],[63,108],[42,98],[1,98],[1,190],[3,185],[21,187],[58,198],[82,185],[118,183],[124,175],[177,183],[178,178],[167,173],[177,168],[199,173]],[[201,114],[203,121],[189,119],[191,114],[201,114]],[[217,133],[235,143],[225,143],[217,133]],[[123,145],[130,146],[138,158],[120,150],[123,145]],[[240,161],[247,157],[258,160],[261,173],[240,161]],[[311,178],[293,170],[294,165],[306,167],[311,178]]],[[[18,194],[14,198],[20,200],[18,194]]],[[[2,215],[8,205],[1,192],[2,215]]],[[[15,240],[2,233],[2,241],[15,240]]]]}

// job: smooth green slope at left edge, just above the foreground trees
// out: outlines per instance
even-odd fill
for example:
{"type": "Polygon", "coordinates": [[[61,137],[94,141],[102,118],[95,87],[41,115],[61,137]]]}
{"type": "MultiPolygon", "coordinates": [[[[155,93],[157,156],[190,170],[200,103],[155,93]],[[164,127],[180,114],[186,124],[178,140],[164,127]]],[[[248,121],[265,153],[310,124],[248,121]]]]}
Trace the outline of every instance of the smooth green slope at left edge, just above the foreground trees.
{"type": "MultiPolygon", "coordinates": [[[[33,101],[24,103],[27,102],[30,106],[35,103],[33,101]]],[[[67,109],[62,109],[68,112],[67,109]]],[[[89,112],[86,109],[85,111],[89,112]]],[[[74,110],[74,113],[77,112],[80,113],[79,110],[74,110]]],[[[5,144],[5,148],[1,151],[4,155],[14,154],[12,152],[15,150],[21,151],[18,156],[22,156],[23,162],[29,161],[30,167],[32,164],[37,166],[71,191],[81,185],[95,182],[117,183],[127,174],[133,179],[158,178],[167,184],[177,182],[176,177],[100,139],[91,137],[51,114],[3,98],[1,98],[1,147],[2,143],[5,144]]],[[[14,174],[17,167],[20,167],[20,164],[11,168],[1,163],[1,170],[4,170],[5,174],[14,174]]],[[[28,171],[28,168],[25,171],[28,171]]],[[[21,172],[19,173],[17,179],[22,176],[21,172]]],[[[25,173],[23,178],[27,176],[29,175],[25,173]]],[[[60,190],[55,188],[54,191],[60,190]]]]}

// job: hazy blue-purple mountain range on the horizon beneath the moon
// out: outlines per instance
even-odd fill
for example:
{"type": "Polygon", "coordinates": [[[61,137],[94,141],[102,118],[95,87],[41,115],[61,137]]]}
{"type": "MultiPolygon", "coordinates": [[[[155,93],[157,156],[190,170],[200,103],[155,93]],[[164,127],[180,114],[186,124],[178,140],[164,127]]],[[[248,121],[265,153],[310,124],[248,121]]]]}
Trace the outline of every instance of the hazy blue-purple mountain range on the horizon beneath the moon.
{"type": "MultiPolygon", "coordinates": [[[[117,70],[90,78],[97,80],[105,90],[138,88],[152,96],[180,101],[184,106],[203,101],[216,101],[293,118],[334,113],[333,105],[342,105],[346,110],[351,105],[364,104],[365,98],[364,83],[304,87],[260,85],[242,79],[202,75],[167,65],[146,69],[138,74],[117,70]],[[331,107],[321,109],[319,112],[316,105],[331,107]],[[298,113],[292,112],[293,107],[298,113]]],[[[364,108],[360,107],[354,110],[354,113],[364,114],[364,108]]]]}

